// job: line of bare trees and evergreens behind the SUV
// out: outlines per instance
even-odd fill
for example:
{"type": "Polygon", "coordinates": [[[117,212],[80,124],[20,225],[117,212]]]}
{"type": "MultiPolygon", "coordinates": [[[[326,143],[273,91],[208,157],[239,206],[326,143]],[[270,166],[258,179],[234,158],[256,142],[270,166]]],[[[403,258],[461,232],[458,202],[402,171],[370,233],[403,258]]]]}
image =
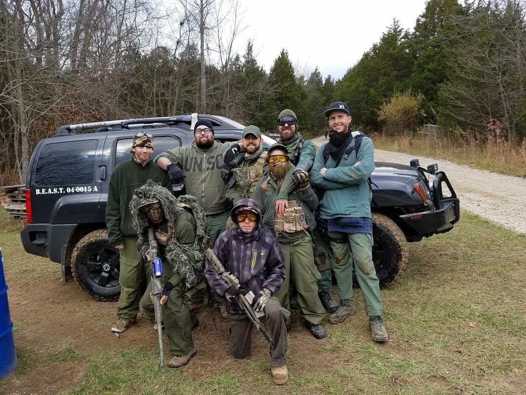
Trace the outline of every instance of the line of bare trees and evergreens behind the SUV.
{"type": "Polygon", "coordinates": [[[395,19],[340,78],[269,72],[242,32],[237,0],[0,0],[0,168],[18,183],[38,140],[58,126],[188,114],[274,130],[283,108],[321,133],[347,102],[353,126],[396,133],[439,124],[480,139],[526,136],[524,0],[428,0],[412,31],[395,19]]]}

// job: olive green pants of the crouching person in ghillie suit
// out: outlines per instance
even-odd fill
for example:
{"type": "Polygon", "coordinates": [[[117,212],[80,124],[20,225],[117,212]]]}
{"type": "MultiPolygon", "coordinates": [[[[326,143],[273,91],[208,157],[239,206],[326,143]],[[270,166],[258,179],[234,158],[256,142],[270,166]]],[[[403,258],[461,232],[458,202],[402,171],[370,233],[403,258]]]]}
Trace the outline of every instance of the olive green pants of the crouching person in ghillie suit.
{"type": "MultiPolygon", "coordinates": [[[[161,284],[164,285],[172,276],[174,271],[168,262],[163,261],[163,276],[161,284]]],[[[168,299],[161,306],[163,324],[168,336],[171,356],[185,355],[194,347],[192,339],[192,320],[188,304],[183,302],[184,284],[181,276],[176,274],[177,281],[174,281],[174,289],[168,293],[168,299]]],[[[148,317],[155,321],[154,303],[151,301],[151,281],[140,300],[143,310],[148,317]]]]}

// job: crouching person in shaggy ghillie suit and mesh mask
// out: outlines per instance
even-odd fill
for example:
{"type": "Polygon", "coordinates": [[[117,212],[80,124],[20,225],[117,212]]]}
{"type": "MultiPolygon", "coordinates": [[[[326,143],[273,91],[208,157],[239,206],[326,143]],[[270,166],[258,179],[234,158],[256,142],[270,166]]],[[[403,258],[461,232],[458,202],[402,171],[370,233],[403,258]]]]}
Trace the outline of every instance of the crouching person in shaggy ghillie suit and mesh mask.
{"type": "MultiPolygon", "coordinates": [[[[150,256],[148,228],[154,228],[158,257],[163,262],[160,304],[172,356],[168,367],[179,368],[197,353],[191,333],[194,324],[198,323],[197,317],[190,313],[183,298],[188,298],[191,289],[204,279],[205,213],[195,197],[184,195],[176,199],[166,188],[151,180],[135,191],[129,209],[138,235],[137,249],[143,253],[145,261],[150,256]]],[[[151,287],[150,281],[141,305],[153,320],[151,287]]]]}

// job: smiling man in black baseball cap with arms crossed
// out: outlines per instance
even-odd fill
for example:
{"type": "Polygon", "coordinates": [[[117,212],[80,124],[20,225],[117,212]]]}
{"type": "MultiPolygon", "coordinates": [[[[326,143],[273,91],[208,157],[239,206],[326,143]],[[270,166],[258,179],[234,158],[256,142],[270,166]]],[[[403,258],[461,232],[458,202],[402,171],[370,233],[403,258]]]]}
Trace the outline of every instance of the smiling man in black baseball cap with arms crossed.
{"type": "Polygon", "coordinates": [[[367,181],[375,170],[375,147],[363,133],[351,132],[346,103],[332,103],[325,116],[331,129],[330,138],[316,154],[310,181],[325,190],[318,206],[318,224],[325,228],[330,240],[340,297],[340,307],[329,315],[329,322],[339,324],[356,314],[352,302],[354,268],[369,316],[372,340],[384,342],[387,331],[382,322],[380,287],[372,262],[372,193],[367,181]],[[361,142],[358,152],[357,141],[361,142]]]}

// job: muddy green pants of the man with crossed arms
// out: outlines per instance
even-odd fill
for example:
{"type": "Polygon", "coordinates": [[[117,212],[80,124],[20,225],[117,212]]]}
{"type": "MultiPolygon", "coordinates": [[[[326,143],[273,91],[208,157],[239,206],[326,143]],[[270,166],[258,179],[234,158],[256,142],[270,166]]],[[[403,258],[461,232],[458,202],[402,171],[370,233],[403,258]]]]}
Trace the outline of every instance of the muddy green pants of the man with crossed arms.
{"type": "Polygon", "coordinates": [[[380,283],[376,276],[375,264],[372,262],[372,235],[361,233],[327,232],[334,253],[334,274],[338,283],[338,295],[341,299],[352,298],[352,268],[365,302],[367,314],[381,315],[380,283]]]}

